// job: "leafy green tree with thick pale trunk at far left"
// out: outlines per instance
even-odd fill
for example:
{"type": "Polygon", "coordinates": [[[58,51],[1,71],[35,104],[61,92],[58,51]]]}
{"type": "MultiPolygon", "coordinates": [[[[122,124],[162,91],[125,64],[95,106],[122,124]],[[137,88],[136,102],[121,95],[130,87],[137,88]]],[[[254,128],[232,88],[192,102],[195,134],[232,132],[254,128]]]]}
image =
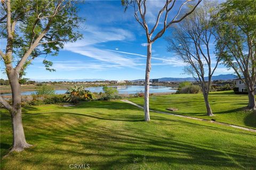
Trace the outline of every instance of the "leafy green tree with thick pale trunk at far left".
{"type": "MultiPolygon", "coordinates": [[[[11,151],[21,151],[29,145],[21,118],[21,91],[19,80],[26,67],[40,55],[57,55],[65,42],[76,41],[81,34],[75,31],[82,19],[77,16],[73,1],[1,1],[1,38],[5,50],[0,50],[5,72],[12,89],[12,104],[0,96],[0,103],[12,118],[13,146],[11,151]]],[[[44,60],[46,70],[51,62],[44,60]]]]}

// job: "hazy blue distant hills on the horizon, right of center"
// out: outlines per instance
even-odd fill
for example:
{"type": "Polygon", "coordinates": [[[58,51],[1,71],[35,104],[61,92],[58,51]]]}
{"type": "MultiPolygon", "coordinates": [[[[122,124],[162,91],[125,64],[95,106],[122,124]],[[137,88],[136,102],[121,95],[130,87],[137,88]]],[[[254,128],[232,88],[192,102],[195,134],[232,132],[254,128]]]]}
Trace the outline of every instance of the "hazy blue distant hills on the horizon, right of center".
{"type": "MultiPolygon", "coordinates": [[[[214,80],[233,80],[233,79],[236,79],[236,75],[233,75],[233,74],[220,74],[220,75],[214,75],[212,77],[212,81],[214,80]]],[[[208,80],[208,77],[205,78],[206,80],[208,80]]],[[[151,81],[152,79],[150,79],[151,81]]],[[[144,79],[137,79],[137,80],[133,80],[133,81],[144,81],[144,79]]],[[[194,78],[159,78],[158,81],[163,81],[163,82],[166,82],[166,81],[172,81],[172,82],[175,82],[175,81],[195,81],[194,78]]]]}

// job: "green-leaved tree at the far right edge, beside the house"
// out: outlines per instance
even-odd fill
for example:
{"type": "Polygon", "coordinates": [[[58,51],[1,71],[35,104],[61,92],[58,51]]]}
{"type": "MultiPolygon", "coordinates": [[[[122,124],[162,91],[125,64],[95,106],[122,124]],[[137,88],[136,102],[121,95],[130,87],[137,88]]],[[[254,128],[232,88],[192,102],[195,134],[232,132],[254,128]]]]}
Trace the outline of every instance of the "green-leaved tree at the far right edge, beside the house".
{"type": "Polygon", "coordinates": [[[223,63],[234,69],[246,84],[250,109],[255,110],[256,81],[256,2],[227,1],[220,4],[214,25],[218,29],[218,44],[225,45],[224,52],[217,46],[223,63]]]}

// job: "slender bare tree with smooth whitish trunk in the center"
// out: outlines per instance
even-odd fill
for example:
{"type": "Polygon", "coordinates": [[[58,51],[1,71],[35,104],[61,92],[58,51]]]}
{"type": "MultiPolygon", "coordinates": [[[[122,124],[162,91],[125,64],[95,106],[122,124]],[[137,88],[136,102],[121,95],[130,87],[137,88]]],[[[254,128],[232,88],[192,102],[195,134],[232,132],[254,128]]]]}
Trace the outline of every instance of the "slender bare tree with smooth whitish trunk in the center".
{"type": "Polygon", "coordinates": [[[163,7],[158,11],[156,21],[154,24],[148,24],[146,20],[147,14],[147,0],[122,0],[122,4],[125,6],[125,10],[130,5],[134,8],[134,17],[145,30],[147,38],[147,63],[145,73],[145,94],[144,94],[144,112],[145,121],[150,121],[149,116],[149,73],[151,71],[151,55],[152,55],[152,44],[160,37],[163,36],[166,29],[172,24],[178,23],[191,14],[197,5],[202,1],[198,0],[194,7],[187,13],[182,13],[186,10],[184,6],[191,0],[177,3],[177,1],[166,0],[163,1],[163,7]],[[175,7],[174,7],[175,6],[175,7]],[[174,8],[173,8],[174,7],[174,8]],[[169,16],[171,14],[171,16],[169,16]],[[163,17],[161,17],[163,15],[163,17]],[[159,24],[163,23],[163,24],[159,24]],[[151,26],[151,29],[149,28],[151,26]]]}

